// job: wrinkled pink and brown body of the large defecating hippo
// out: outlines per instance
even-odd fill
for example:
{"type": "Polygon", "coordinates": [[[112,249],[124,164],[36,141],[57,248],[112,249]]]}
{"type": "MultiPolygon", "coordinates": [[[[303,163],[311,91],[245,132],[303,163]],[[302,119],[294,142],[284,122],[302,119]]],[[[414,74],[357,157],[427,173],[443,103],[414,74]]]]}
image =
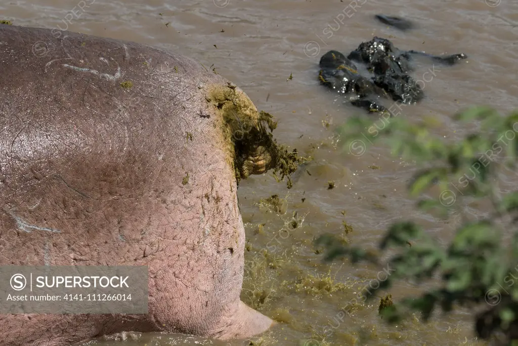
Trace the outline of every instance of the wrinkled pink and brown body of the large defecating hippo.
{"type": "Polygon", "coordinates": [[[171,52],[62,34],[0,25],[0,265],[147,265],[149,313],[4,314],[0,344],[268,329],[239,300],[235,172],[204,96],[227,81],[171,52]]]}

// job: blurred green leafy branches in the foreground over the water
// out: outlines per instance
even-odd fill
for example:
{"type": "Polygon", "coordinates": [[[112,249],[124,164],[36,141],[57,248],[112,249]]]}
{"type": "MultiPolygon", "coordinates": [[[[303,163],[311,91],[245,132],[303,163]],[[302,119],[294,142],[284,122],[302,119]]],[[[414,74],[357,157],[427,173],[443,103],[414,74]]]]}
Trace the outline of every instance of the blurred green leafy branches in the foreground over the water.
{"type": "Polygon", "coordinates": [[[518,113],[506,117],[491,108],[474,107],[453,120],[477,129],[458,141],[433,135],[425,124],[401,117],[380,118],[375,129],[372,118],[355,117],[339,129],[346,150],[353,142],[357,147],[358,140],[386,144],[394,156],[422,168],[408,186],[418,209],[443,219],[462,216],[463,224],[449,244],[441,245],[411,220],[387,230],[376,256],[340,245],[328,234],[316,243],[326,246],[328,261],[349,256],[353,262],[379,263],[378,256],[389,256],[387,262],[395,271],[378,290],[389,289],[397,280],[432,282],[427,287],[435,288],[420,297],[384,309],[385,320],[397,322],[419,311],[426,321],[436,310],[463,306],[476,312],[479,337],[511,345],[518,340],[518,191],[502,193],[497,182],[502,168],[516,169],[518,113]],[[483,213],[467,215],[466,203],[476,202],[484,205],[483,213]]]}

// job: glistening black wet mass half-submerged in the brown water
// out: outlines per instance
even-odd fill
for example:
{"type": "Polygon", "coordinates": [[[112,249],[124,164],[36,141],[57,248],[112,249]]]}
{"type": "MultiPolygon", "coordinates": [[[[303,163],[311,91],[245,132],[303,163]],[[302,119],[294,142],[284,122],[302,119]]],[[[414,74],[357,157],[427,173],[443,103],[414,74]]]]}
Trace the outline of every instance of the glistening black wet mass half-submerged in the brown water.
{"type": "MultiPolygon", "coordinates": [[[[376,15],[375,18],[400,30],[415,27],[410,21],[397,17],[376,15]]],[[[421,86],[409,73],[412,56],[419,55],[445,65],[453,65],[467,59],[466,54],[434,56],[424,51],[402,51],[386,38],[375,36],[361,43],[346,57],[339,51],[330,50],[320,59],[319,79],[322,85],[336,90],[354,106],[369,113],[388,112],[380,100],[392,99],[401,104],[412,104],[424,98],[421,86]],[[367,72],[358,70],[359,63],[367,72]]],[[[390,112],[388,112],[390,113],[390,112]]]]}

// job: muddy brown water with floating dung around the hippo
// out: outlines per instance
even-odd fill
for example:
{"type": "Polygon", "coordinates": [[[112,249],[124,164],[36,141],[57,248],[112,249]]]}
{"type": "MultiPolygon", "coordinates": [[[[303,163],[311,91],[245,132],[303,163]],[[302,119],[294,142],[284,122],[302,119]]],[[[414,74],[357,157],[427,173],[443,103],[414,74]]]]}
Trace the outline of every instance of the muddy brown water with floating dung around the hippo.
{"type": "MultiPolygon", "coordinates": [[[[414,209],[414,201],[405,190],[415,172],[414,163],[391,158],[389,149],[383,146],[364,150],[361,142],[353,150],[342,150],[334,136],[336,126],[360,111],[343,105],[336,95],[319,85],[316,76],[319,58],[327,50],[347,54],[374,35],[391,38],[401,49],[466,53],[467,61],[453,67],[436,64],[435,74],[424,78],[432,66],[419,64],[414,76],[425,80],[426,99],[419,105],[405,106],[401,112],[401,116],[428,119],[433,124],[430,131],[445,140],[460,139],[466,126],[451,120],[459,109],[487,104],[507,113],[517,104],[517,2],[3,0],[0,13],[1,19],[17,25],[57,27],[139,41],[215,67],[242,87],[259,109],[277,117],[275,134],[280,142],[314,157],[306,167],[311,175],[305,171],[296,175],[291,190],[265,174],[243,181],[238,191],[250,250],[242,299],[283,321],[256,340],[257,344],[485,344],[474,338],[472,313],[462,309],[450,315],[437,314],[427,324],[418,317],[397,326],[384,324],[377,314],[378,298],[358,305],[350,303],[370,280],[377,276],[383,280],[384,268],[353,266],[348,260],[330,266],[321,262],[321,254],[315,253],[312,240],[322,232],[373,248],[387,226],[400,218],[418,221],[441,242],[451,239],[452,231],[461,222],[459,215],[445,222],[414,209]],[[78,5],[83,10],[75,7],[78,5]],[[372,19],[376,13],[408,18],[419,28],[405,33],[391,29],[372,19]],[[71,23],[64,18],[71,18],[71,23]],[[288,80],[290,74],[293,78],[288,80]],[[327,189],[328,181],[335,183],[334,189],[327,189]],[[280,212],[260,202],[274,194],[284,200],[280,212]],[[290,229],[286,225],[295,211],[299,227],[290,229]],[[343,221],[353,227],[347,236],[343,221]],[[265,251],[267,260],[257,256],[265,251]],[[347,313],[340,313],[348,305],[347,313]],[[332,333],[327,332],[330,336],[323,339],[328,325],[333,326],[327,327],[332,333]]],[[[373,123],[383,126],[376,118],[373,123]]],[[[357,137],[366,142],[361,133],[357,137]]],[[[506,189],[516,181],[515,172],[501,176],[501,185],[506,189]]],[[[454,187],[452,191],[456,192],[454,187]]],[[[484,213],[483,207],[477,205],[463,208],[473,217],[484,213]]],[[[399,282],[391,290],[394,300],[420,292],[421,288],[407,282],[399,282]]],[[[95,340],[88,344],[243,343],[148,334],[137,340],[95,340]]]]}

